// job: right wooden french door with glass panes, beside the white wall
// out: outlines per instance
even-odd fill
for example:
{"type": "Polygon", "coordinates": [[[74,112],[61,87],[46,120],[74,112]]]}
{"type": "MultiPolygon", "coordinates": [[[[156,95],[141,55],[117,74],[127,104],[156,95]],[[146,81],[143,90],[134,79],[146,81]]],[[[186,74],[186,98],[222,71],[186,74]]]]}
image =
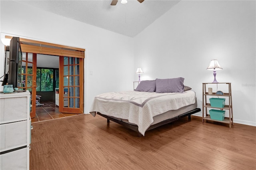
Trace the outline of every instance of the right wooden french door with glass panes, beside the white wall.
{"type": "Polygon", "coordinates": [[[59,111],[84,113],[83,58],[60,56],[59,111]]]}

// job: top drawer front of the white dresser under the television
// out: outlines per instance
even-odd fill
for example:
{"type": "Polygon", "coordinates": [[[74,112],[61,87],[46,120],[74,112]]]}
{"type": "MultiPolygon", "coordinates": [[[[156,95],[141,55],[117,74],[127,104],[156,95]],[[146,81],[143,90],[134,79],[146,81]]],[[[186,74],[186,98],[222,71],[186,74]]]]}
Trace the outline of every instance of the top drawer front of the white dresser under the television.
{"type": "Polygon", "coordinates": [[[1,98],[0,99],[0,122],[10,122],[27,119],[27,97],[1,98]]]}

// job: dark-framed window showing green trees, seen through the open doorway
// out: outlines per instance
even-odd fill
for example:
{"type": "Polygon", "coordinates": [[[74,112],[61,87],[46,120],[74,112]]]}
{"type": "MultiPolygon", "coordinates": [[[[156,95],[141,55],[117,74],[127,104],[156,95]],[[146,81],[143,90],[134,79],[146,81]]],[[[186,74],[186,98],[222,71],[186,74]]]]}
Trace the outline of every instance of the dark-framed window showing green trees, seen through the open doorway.
{"type": "Polygon", "coordinates": [[[54,89],[54,69],[36,69],[36,91],[53,91],[54,89]]]}

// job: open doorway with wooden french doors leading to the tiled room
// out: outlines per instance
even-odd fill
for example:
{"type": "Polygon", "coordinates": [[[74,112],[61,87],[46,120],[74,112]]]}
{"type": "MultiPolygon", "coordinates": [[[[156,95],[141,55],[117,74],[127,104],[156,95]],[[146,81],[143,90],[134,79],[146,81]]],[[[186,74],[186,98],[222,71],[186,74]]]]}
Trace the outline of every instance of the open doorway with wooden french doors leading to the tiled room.
{"type": "Polygon", "coordinates": [[[32,121],[83,113],[83,59],[25,52],[22,56],[20,88],[31,93],[32,121]]]}

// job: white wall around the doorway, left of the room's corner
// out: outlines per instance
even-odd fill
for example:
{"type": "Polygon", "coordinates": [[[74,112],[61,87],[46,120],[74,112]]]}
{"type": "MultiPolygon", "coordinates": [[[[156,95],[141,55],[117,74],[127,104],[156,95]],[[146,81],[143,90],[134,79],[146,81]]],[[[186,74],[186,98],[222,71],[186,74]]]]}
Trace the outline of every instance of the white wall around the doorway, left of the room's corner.
{"type": "MultiPolygon", "coordinates": [[[[133,38],[18,2],[0,1],[0,4],[1,38],[4,35],[20,36],[86,49],[85,113],[89,113],[92,100],[100,93],[132,90],[133,38]],[[93,71],[93,75],[89,75],[90,70],[93,71]]],[[[0,45],[0,75],[2,76],[4,45],[2,43],[0,45]]]]}

